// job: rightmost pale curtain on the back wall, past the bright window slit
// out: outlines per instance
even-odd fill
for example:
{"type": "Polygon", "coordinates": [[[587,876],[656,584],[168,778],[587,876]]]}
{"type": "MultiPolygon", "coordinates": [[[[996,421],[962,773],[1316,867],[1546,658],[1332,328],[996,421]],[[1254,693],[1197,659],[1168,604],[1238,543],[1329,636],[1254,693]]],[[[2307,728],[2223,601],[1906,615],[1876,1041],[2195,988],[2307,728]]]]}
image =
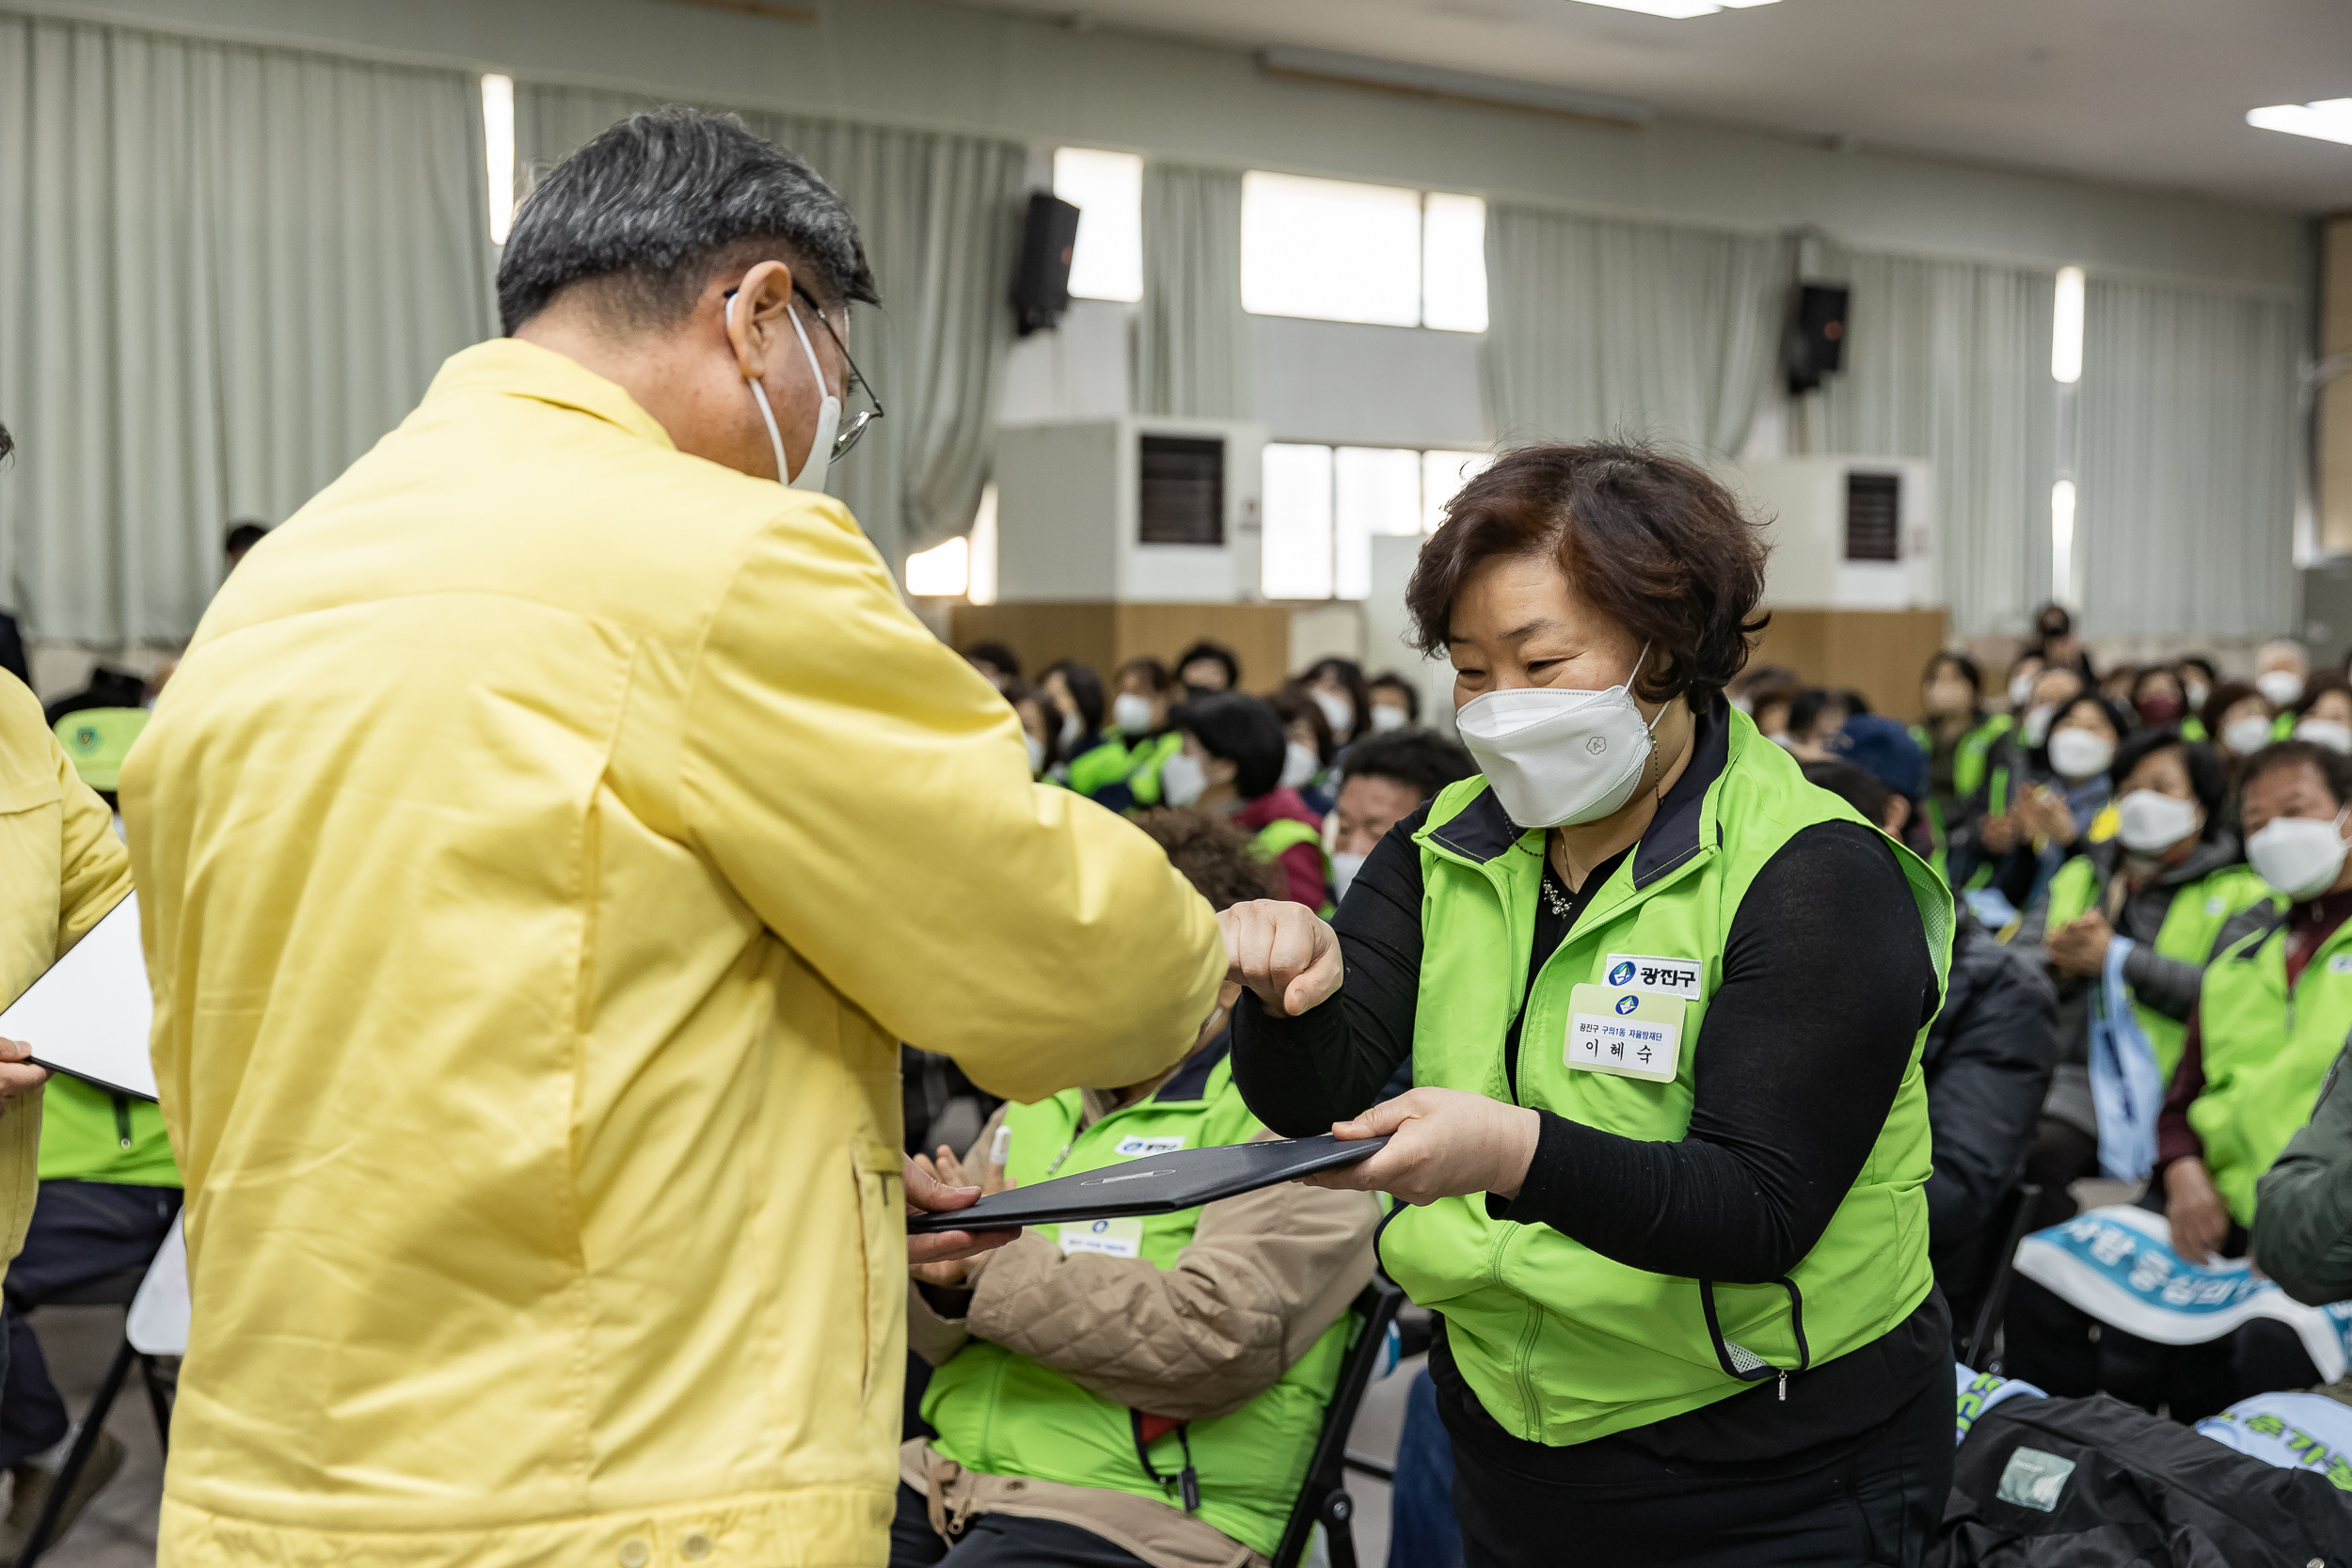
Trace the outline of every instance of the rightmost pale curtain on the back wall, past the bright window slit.
{"type": "Polygon", "coordinates": [[[2091,280],[2074,503],[2089,632],[2293,630],[2300,341],[2284,301],[2091,280]]]}

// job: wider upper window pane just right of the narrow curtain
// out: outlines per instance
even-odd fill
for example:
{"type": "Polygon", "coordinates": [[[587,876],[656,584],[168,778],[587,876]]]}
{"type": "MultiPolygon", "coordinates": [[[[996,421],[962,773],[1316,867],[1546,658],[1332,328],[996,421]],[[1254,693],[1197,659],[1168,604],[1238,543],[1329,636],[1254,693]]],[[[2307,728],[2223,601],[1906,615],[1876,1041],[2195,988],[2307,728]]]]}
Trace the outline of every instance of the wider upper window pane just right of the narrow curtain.
{"type": "Polygon", "coordinates": [[[1242,176],[1242,308],[1421,324],[1421,193],[1251,169],[1242,176]]]}

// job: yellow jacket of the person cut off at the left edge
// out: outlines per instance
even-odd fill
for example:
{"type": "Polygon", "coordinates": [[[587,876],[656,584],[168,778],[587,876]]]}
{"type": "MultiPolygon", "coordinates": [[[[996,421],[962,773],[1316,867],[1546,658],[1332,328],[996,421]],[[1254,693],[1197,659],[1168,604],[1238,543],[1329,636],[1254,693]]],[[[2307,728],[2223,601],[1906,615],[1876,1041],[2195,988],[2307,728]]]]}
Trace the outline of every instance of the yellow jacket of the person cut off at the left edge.
{"type": "MultiPolygon", "coordinates": [[[[14,675],[0,675],[0,1006],[129,891],[132,860],[115,837],[115,813],[73,771],[40,701],[14,675]]],[[[42,1041],[28,1044],[40,1053],[42,1041]]],[[[0,1279],[24,1251],[38,1168],[40,1095],[24,1095],[0,1114],[0,1279]]]]}

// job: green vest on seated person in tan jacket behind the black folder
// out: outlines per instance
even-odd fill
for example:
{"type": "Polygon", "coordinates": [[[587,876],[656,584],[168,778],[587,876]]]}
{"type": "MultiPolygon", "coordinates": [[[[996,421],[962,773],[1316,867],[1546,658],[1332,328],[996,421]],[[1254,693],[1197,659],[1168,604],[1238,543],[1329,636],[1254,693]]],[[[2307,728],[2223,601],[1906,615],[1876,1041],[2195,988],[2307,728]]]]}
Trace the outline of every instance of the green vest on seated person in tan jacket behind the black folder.
{"type": "MultiPolygon", "coordinates": [[[[1004,1117],[1011,1128],[1007,1175],[1028,1187],[1051,1175],[1080,1175],[1171,1150],[1249,1143],[1265,1133],[1232,1086],[1228,1056],[1214,1048],[1178,1067],[1176,1077],[1136,1105],[1115,1110],[1084,1131],[1080,1117],[1077,1088],[1035,1105],[1014,1105],[1004,1117]]],[[[1200,1208],[1185,1208],[1030,1229],[1061,1244],[1068,1255],[1148,1258],[1169,1269],[1192,1241],[1197,1222],[1200,1208]]],[[[1157,1436],[1145,1453],[1162,1481],[1143,1469],[1131,1410],[985,1340],[967,1340],[955,1359],[931,1373],[922,1418],[938,1432],[938,1453],[964,1469],[1098,1486],[1176,1507],[1183,1507],[1176,1476],[1190,1450],[1200,1516],[1251,1552],[1270,1556],[1305,1483],[1324,1406],[1348,1354],[1350,1326],[1352,1316],[1341,1314],[1279,1382],[1240,1410],[1157,1436]]]]}

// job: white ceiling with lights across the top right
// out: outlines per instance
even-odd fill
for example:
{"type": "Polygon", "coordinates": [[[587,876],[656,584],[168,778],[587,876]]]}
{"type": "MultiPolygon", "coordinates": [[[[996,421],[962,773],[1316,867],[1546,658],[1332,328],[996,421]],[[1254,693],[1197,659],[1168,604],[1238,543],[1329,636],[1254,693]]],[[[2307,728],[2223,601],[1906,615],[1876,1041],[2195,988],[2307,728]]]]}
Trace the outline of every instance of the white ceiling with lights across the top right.
{"type": "Polygon", "coordinates": [[[2298,209],[2352,146],[2246,110],[2352,96],[2352,0],[1778,0],[1663,21],[1578,0],[969,0],[1649,99],[1661,110],[2298,209]]]}

